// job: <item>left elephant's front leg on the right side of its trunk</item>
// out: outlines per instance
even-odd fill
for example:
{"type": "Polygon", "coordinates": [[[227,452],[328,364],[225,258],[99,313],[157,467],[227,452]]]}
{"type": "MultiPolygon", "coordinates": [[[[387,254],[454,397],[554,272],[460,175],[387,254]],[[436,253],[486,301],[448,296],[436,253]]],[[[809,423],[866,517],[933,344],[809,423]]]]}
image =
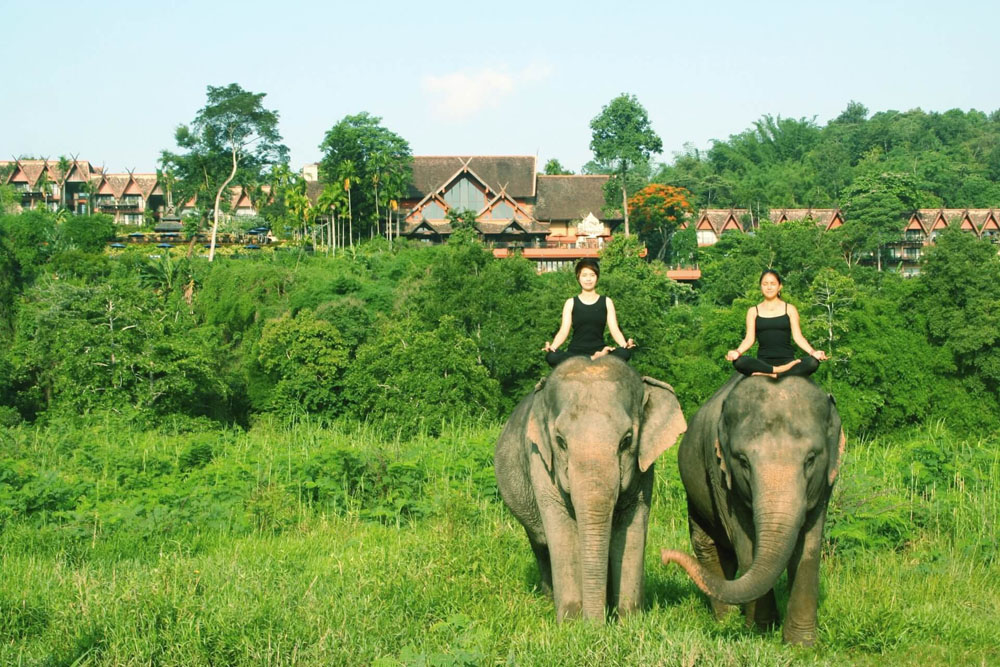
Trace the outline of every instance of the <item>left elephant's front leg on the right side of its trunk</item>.
{"type": "Polygon", "coordinates": [[[649,506],[639,500],[620,516],[616,514],[614,520],[609,549],[608,604],[620,615],[625,615],[642,609],[649,506]]]}

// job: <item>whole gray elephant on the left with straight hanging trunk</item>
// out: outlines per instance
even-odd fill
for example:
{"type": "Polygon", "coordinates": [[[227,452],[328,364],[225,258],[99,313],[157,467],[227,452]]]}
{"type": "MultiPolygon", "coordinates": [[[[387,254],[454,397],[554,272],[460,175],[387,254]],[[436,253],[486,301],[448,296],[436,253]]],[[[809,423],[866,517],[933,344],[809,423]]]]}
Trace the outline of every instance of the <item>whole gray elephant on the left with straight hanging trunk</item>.
{"type": "Polygon", "coordinates": [[[642,606],[653,462],[685,428],[670,385],[612,356],[564,361],[514,409],[497,486],[559,621],[642,606]]]}

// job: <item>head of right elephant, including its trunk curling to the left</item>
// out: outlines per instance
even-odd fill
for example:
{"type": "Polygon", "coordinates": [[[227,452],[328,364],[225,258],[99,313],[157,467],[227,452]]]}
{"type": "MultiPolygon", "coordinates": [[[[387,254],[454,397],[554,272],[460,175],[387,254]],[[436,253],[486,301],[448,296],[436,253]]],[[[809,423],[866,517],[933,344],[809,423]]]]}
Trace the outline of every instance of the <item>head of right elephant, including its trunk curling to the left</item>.
{"type": "Polygon", "coordinates": [[[844,434],[833,397],[798,377],[738,383],[722,404],[716,433],[709,458],[717,470],[710,476],[752,540],[753,562],[731,581],[681,552],[664,551],[663,562],[680,564],[713,598],[743,604],[774,587],[805,524],[825,511],[844,434]]]}

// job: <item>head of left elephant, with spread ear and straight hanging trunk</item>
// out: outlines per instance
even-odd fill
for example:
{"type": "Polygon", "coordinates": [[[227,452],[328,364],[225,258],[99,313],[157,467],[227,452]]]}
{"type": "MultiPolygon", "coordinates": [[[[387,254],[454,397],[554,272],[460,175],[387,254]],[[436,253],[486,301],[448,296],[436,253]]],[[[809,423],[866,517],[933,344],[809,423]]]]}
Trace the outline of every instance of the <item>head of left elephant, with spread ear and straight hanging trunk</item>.
{"type": "Polygon", "coordinates": [[[569,359],[537,389],[527,437],[576,519],[586,618],[604,619],[616,507],[686,427],[669,385],[614,357],[569,359]]]}

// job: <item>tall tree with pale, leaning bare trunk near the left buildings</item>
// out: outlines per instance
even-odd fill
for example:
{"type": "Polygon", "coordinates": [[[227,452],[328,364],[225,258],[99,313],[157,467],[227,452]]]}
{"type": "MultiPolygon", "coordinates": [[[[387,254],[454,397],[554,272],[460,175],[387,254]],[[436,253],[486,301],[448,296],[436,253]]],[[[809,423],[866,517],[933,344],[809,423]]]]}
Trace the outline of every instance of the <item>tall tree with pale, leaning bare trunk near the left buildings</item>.
{"type": "Polygon", "coordinates": [[[288,148],[278,133],[278,112],[264,108],[265,96],[235,83],[208,86],[205,106],[190,126],[179,126],[175,134],[177,145],[188,152],[162,153],[164,167],[172,167],[182,181],[197,183],[196,193],[215,195],[208,261],[215,258],[222,195],[229,184],[257,183],[266,167],[288,162],[288,148]]]}

